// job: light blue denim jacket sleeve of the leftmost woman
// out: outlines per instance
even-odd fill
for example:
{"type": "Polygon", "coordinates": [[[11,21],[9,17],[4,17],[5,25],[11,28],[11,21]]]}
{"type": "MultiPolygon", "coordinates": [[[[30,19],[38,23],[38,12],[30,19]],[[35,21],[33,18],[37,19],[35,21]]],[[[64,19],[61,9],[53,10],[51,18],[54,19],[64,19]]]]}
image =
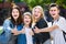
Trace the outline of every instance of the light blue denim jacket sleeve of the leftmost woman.
{"type": "Polygon", "coordinates": [[[10,38],[11,30],[8,29],[10,26],[10,20],[6,20],[3,23],[3,31],[4,33],[0,35],[0,42],[7,43],[10,38]]]}

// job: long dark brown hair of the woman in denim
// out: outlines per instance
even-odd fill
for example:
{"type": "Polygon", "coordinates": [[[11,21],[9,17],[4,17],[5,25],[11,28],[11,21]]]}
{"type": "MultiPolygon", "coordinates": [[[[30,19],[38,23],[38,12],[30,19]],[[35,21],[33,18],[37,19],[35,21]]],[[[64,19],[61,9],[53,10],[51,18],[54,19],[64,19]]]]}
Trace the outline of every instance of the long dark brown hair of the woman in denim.
{"type": "Polygon", "coordinates": [[[21,11],[20,11],[20,8],[19,7],[15,7],[15,8],[12,8],[11,9],[11,22],[14,24],[14,25],[18,25],[18,24],[21,24],[22,23],[22,14],[21,14],[21,11]],[[16,9],[19,11],[19,18],[18,20],[15,21],[12,16],[12,10],[13,9],[16,9]]]}

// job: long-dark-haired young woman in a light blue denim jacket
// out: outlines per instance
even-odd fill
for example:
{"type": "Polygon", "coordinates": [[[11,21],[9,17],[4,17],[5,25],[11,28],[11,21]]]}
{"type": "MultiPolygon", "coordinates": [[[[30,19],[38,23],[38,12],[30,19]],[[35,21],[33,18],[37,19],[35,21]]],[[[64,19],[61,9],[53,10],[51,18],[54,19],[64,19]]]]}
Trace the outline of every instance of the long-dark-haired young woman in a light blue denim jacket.
{"type": "Polygon", "coordinates": [[[6,35],[4,35],[6,41],[3,41],[3,43],[4,44],[16,44],[19,42],[25,43],[25,35],[19,33],[20,30],[22,30],[22,28],[23,28],[23,25],[22,25],[21,11],[20,11],[19,7],[13,7],[11,10],[10,19],[7,19],[3,23],[3,30],[6,32],[6,35]]]}

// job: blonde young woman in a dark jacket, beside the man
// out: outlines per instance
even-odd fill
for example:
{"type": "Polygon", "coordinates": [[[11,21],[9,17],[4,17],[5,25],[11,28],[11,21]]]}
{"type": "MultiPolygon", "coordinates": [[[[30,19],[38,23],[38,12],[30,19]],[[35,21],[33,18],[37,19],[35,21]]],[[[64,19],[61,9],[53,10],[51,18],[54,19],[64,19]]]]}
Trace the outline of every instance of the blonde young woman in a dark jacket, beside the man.
{"type": "MultiPolygon", "coordinates": [[[[33,14],[33,23],[32,28],[33,30],[35,28],[43,29],[47,28],[47,23],[44,20],[44,11],[41,6],[36,6],[32,10],[33,14]]],[[[42,33],[34,33],[34,41],[36,44],[50,44],[50,33],[48,32],[42,32],[42,33]]]]}

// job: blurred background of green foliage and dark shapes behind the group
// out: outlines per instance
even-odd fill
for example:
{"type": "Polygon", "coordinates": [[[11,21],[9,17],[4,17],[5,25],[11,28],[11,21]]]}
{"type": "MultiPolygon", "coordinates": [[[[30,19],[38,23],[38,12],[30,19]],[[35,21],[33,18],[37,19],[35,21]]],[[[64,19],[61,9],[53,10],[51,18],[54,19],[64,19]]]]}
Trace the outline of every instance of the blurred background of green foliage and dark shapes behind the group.
{"type": "Polygon", "coordinates": [[[20,7],[22,13],[26,11],[32,11],[35,6],[41,6],[44,9],[46,20],[50,22],[52,20],[48,13],[48,6],[51,3],[57,3],[61,9],[61,15],[66,18],[66,0],[0,0],[0,25],[3,21],[10,16],[10,10],[13,4],[20,7]]]}

